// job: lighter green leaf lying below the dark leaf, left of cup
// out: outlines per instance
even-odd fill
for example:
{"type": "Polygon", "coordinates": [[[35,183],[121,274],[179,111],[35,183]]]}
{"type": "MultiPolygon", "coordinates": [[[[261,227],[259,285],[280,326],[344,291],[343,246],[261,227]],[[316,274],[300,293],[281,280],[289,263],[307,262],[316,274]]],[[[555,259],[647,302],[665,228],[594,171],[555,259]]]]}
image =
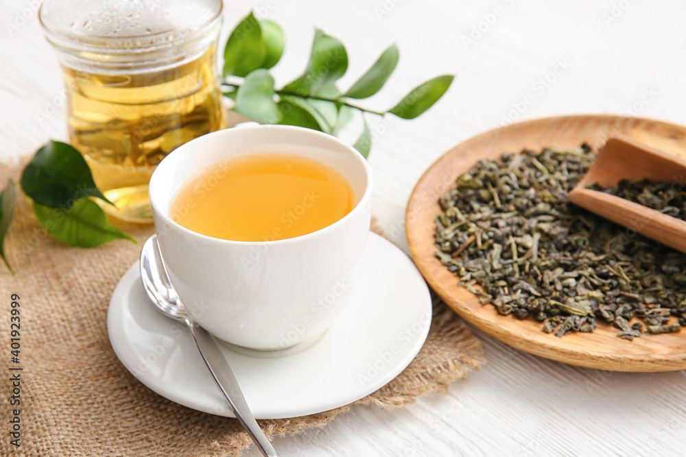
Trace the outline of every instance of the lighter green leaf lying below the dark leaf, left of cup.
{"type": "Polygon", "coordinates": [[[91,199],[80,199],[71,208],[49,208],[34,202],[34,213],[45,230],[69,246],[95,247],[117,239],[137,243],[112,225],[91,199]]]}

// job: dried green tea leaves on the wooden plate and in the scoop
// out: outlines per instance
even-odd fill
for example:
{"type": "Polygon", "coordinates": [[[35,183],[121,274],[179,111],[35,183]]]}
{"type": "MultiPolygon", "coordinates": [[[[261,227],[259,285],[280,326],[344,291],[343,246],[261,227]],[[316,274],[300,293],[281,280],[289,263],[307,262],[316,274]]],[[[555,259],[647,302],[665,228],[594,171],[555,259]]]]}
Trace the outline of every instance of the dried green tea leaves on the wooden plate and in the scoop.
{"type": "MultiPolygon", "coordinates": [[[[482,286],[499,314],[543,322],[543,332],[590,333],[598,321],[627,340],[643,324],[649,333],[678,332],[686,255],[567,201],[594,159],[582,145],[480,160],[438,201],[436,257],[461,286],[482,286]]],[[[680,198],[659,183],[629,185],[650,206],[668,209],[680,198]]]]}

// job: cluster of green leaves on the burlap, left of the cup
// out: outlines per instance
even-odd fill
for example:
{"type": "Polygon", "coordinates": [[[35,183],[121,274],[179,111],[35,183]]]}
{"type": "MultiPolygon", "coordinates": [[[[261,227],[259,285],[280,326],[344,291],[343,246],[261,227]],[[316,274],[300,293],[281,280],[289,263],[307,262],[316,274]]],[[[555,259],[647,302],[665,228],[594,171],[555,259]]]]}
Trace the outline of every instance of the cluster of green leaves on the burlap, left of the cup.
{"type": "MultiPolygon", "coordinates": [[[[136,243],[108,221],[105,212],[91,198],[113,205],[93,182],[86,160],[73,146],[50,141],[36,152],[21,174],[21,188],[32,200],[40,225],[69,246],[95,247],[111,240],[136,243]]],[[[0,193],[0,256],[10,272],[5,237],[14,212],[14,182],[0,193]]]]}

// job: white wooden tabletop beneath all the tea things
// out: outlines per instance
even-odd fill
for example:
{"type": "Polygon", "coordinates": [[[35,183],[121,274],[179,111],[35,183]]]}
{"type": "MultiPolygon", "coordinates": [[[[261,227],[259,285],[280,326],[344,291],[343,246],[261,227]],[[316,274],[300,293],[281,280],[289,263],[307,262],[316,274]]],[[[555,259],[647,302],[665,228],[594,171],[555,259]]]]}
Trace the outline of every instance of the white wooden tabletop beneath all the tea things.
{"type": "MultiPolygon", "coordinates": [[[[34,3],[0,4],[0,160],[10,163],[48,138],[66,139],[64,88],[30,12],[34,3]],[[48,111],[54,114],[40,119],[48,111]]],[[[390,108],[434,75],[458,74],[444,99],[421,118],[393,119],[386,132],[380,119],[370,118],[379,136],[370,157],[373,212],[405,248],[403,212],[414,183],[438,156],[477,133],[570,113],[686,123],[683,0],[225,3],[224,36],[251,5],[283,25],[287,50],[275,69],[277,84],[302,71],[315,25],[348,49],[343,87],[398,43],[398,69],[382,93],[364,101],[370,108],[390,108]]],[[[355,129],[359,125],[351,125],[346,139],[354,139],[355,129]]],[[[449,395],[426,395],[399,410],[355,407],[324,430],[276,439],[276,448],[283,456],[686,453],[686,372],[580,369],[477,335],[488,364],[453,384],[449,395]]],[[[246,454],[259,455],[255,449],[246,454]]]]}

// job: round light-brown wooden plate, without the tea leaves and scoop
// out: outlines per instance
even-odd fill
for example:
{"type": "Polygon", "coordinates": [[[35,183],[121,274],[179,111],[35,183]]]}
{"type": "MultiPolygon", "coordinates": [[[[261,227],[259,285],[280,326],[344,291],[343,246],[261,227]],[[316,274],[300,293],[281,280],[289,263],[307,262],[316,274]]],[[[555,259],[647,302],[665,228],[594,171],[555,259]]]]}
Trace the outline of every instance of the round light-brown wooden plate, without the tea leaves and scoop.
{"type": "MultiPolygon", "coordinates": [[[[622,133],[641,142],[686,157],[686,127],[624,116],[581,115],[535,119],[491,130],[458,145],[438,159],[417,183],[405,223],[412,258],[425,279],[445,302],[475,327],[522,351],[559,362],[613,371],[671,371],[686,369],[686,329],[677,334],[644,335],[634,341],[617,337],[617,330],[598,323],[592,334],[545,334],[542,323],[500,316],[465,288],[437,258],[434,218],[438,197],[454,188],[456,177],[481,158],[524,147],[578,147],[584,141],[594,150],[607,138],[622,133]]],[[[684,177],[686,179],[686,177],[684,177]]]]}

